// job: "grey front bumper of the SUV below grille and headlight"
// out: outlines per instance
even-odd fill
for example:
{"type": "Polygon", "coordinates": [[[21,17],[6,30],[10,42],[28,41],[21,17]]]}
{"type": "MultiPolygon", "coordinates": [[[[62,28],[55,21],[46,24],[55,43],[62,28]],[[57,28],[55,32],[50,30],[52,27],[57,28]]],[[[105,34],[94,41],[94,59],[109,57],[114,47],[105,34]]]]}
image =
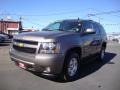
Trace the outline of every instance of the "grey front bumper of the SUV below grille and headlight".
{"type": "Polygon", "coordinates": [[[26,69],[46,74],[60,74],[62,72],[63,54],[32,55],[10,50],[10,58],[16,65],[23,63],[26,69]]]}

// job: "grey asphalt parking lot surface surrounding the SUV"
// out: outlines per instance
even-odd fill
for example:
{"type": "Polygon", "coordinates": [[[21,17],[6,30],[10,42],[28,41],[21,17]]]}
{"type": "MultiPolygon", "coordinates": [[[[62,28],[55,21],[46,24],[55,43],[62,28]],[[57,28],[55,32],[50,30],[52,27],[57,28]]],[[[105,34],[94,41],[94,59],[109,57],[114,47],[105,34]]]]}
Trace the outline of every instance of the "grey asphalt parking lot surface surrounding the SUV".
{"type": "Polygon", "coordinates": [[[0,44],[0,90],[120,90],[120,44],[109,42],[105,62],[81,66],[79,77],[71,82],[31,73],[14,65],[9,44],[0,44]]]}

